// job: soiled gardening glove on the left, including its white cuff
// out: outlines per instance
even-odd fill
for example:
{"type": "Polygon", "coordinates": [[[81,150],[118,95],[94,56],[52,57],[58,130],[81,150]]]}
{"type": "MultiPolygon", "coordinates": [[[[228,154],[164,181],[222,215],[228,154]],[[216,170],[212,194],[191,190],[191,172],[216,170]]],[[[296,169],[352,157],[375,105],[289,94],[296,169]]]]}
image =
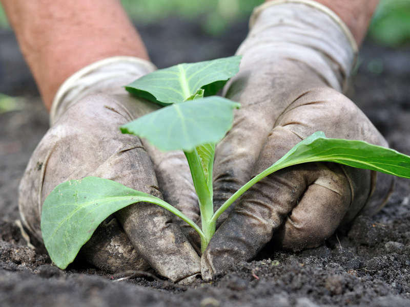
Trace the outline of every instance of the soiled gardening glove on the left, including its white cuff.
{"type": "MultiPolygon", "coordinates": [[[[131,57],[108,58],[80,70],[59,89],[51,128],[35,149],[19,187],[23,224],[42,242],[40,216],[48,194],[60,183],[96,176],[165,198],[192,220],[198,205],[183,152],[162,153],[119,126],[158,107],[121,88],[154,70],[131,57]],[[104,94],[101,94],[104,93],[104,94]]],[[[136,203],[103,222],[79,256],[110,272],[153,268],[175,282],[190,282],[200,258],[171,213],[136,203]]]]}

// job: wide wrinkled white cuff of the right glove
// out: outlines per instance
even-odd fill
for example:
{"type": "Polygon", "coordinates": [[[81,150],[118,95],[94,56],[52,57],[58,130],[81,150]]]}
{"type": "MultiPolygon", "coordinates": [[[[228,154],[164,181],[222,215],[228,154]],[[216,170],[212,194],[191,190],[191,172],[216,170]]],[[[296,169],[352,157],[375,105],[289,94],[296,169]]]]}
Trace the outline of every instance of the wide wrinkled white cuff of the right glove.
{"type": "Polygon", "coordinates": [[[255,59],[265,53],[271,61],[302,62],[341,92],[356,64],[358,47],[329,8],[311,0],[273,0],[254,9],[250,33],[237,54],[248,52],[255,59]]]}

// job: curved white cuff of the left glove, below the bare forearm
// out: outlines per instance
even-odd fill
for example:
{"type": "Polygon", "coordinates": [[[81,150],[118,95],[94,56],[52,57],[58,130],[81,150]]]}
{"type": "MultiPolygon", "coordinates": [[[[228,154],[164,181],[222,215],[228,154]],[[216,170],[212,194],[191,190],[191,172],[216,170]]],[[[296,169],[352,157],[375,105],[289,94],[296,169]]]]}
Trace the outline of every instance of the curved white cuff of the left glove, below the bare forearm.
{"type": "Polygon", "coordinates": [[[80,69],[59,87],[50,109],[50,126],[75,102],[96,93],[124,93],[122,86],[156,70],[150,61],[115,56],[94,62],[80,69]]]}

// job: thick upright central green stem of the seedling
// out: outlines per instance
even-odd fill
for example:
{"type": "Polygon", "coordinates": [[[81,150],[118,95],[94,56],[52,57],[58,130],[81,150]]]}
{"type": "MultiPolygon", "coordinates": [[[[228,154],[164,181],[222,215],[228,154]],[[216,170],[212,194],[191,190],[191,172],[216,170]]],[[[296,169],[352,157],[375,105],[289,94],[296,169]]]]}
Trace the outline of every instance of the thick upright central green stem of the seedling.
{"type": "Polygon", "coordinates": [[[211,237],[215,233],[216,222],[212,221],[214,214],[212,191],[210,191],[208,187],[207,180],[203,173],[201,161],[196,149],[190,152],[184,151],[184,153],[187,157],[195,191],[198,195],[199,210],[201,212],[202,232],[204,235],[203,237],[201,236],[201,251],[203,252],[208,246],[211,237]]]}

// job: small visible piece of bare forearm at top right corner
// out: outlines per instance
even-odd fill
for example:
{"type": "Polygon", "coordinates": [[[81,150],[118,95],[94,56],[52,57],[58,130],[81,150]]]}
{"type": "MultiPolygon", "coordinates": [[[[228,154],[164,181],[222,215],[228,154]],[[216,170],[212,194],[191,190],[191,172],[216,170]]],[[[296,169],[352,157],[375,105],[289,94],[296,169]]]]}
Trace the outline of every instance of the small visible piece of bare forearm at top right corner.
{"type": "MultiPolygon", "coordinates": [[[[272,1],[272,0],[267,0],[272,1]]],[[[366,35],[379,0],[315,0],[334,11],[350,29],[357,45],[366,35]]]]}

